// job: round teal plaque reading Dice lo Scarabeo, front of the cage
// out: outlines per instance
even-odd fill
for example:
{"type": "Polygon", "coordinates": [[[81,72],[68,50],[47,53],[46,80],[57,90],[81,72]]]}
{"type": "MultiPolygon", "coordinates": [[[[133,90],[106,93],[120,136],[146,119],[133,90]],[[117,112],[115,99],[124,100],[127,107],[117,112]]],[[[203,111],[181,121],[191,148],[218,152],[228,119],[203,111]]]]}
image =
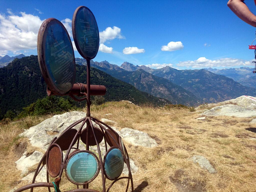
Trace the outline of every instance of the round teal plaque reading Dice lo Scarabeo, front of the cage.
{"type": "Polygon", "coordinates": [[[99,159],[90,151],[78,151],[69,157],[65,171],[70,182],[76,185],[90,183],[99,174],[99,159]]]}

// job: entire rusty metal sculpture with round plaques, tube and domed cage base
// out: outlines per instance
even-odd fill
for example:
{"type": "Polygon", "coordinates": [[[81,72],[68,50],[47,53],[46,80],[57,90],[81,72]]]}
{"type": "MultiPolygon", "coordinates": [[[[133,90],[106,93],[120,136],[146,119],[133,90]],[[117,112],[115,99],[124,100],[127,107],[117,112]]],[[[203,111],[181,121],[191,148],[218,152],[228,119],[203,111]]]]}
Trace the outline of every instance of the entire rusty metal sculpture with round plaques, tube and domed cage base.
{"type": "Polygon", "coordinates": [[[101,122],[90,114],[90,95],[104,95],[106,88],[101,85],[90,84],[90,60],[93,59],[99,49],[99,30],[94,15],[89,8],[80,6],[73,15],[72,33],[76,48],[80,55],[87,60],[87,84],[74,84],[76,66],[72,42],[66,28],[57,19],[45,20],[38,33],[38,61],[42,75],[47,83],[48,95],[70,95],[76,101],[87,100],[86,117],[71,124],[58,137],[55,137],[38,164],[31,184],[21,187],[15,192],[35,187],[54,188],[59,192],[60,180],[65,171],[68,180],[77,186],[77,189],[69,192],[97,192],[89,189],[89,183],[94,180],[100,170],[102,177],[102,191],[108,192],[112,185],[120,180],[127,179],[126,191],[131,182],[133,191],[133,179],[130,169],[129,155],[123,144],[122,138],[110,126],[101,122]],[[78,99],[75,96],[83,96],[78,99]],[[93,126],[95,122],[97,126],[93,126]],[[78,130],[74,126],[81,123],[78,130]],[[85,126],[86,125],[86,126],[85,126]],[[79,141],[86,144],[86,150],[79,149],[79,141]],[[105,155],[102,159],[99,143],[104,139],[105,155]],[[76,147],[74,145],[77,143],[76,147]],[[107,144],[110,146],[108,149],[107,144]],[[89,150],[89,146],[97,146],[98,156],[89,150]],[[63,151],[67,153],[63,157],[63,151]],[[73,150],[71,152],[71,150],[73,150]],[[124,163],[129,174],[120,177],[124,163]],[[35,183],[36,177],[42,168],[47,167],[47,183],[35,183]],[[49,175],[55,181],[49,182],[49,175]],[[106,189],[106,179],[113,182],[106,189]],[[82,188],[79,188],[79,185],[82,188]]]}

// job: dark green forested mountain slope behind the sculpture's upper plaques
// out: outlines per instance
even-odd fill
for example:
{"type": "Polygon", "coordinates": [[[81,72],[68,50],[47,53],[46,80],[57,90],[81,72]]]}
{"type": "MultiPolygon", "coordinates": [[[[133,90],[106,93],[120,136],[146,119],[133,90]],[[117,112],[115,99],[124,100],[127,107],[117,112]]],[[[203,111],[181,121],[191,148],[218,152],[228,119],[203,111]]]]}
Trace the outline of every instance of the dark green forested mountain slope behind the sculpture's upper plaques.
{"type": "MultiPolygon", "coordinates": [[[[86,66],[76,66],[75,82],[86,83],[86,66]]],[[[96,68],[91,68],[91,84],[106,87],[105,101],[129,100],[135,104],[150,103],[158,106],[170,103],[166,99],[139,91],[96,68]]],[[[37,56],[15,59],[6,67],[0,68],[0,119],[8,110],[18,113],[23,107],[46,96],[46,83],[42,78],[37,56]]]]}

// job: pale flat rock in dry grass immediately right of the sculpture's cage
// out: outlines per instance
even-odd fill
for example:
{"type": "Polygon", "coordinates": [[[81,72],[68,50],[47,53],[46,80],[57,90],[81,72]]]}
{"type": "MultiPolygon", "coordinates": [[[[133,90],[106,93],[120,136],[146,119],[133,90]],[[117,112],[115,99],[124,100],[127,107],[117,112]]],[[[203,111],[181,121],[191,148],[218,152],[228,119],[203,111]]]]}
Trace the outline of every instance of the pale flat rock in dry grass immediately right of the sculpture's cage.
{"type": "Polygon", "coordinates": [[[120,131],[120,136],[123,140],[130,142],[132,145],[135,146],[143,146],[143,147],[156,147],[156,141],[151,138],[147,133],[142,131],[130,129],[130,128],[123,128],[120,131]]]}

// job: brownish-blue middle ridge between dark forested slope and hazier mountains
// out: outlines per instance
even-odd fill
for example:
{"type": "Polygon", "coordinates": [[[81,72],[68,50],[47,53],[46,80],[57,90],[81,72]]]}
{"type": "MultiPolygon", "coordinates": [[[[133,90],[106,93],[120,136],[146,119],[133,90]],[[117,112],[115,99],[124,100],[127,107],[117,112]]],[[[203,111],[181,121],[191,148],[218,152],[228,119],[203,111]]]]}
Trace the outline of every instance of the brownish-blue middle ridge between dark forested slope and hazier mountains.
{"type": "Polygon", "coordinates": [[[200,101],[200,99],[198,99],[191,92],[170,82],[167,79],[156,77],[144,71],[143,69],[138,69],[136,71],[126,71],[104,69],[96,65],[94,65],[94,67],[110,74],[119,80],[133,85],[140,91],[147,92],[156,97],[165,98],[171,101],[173,104],[177,103],[194,105],[200,101]]]}

